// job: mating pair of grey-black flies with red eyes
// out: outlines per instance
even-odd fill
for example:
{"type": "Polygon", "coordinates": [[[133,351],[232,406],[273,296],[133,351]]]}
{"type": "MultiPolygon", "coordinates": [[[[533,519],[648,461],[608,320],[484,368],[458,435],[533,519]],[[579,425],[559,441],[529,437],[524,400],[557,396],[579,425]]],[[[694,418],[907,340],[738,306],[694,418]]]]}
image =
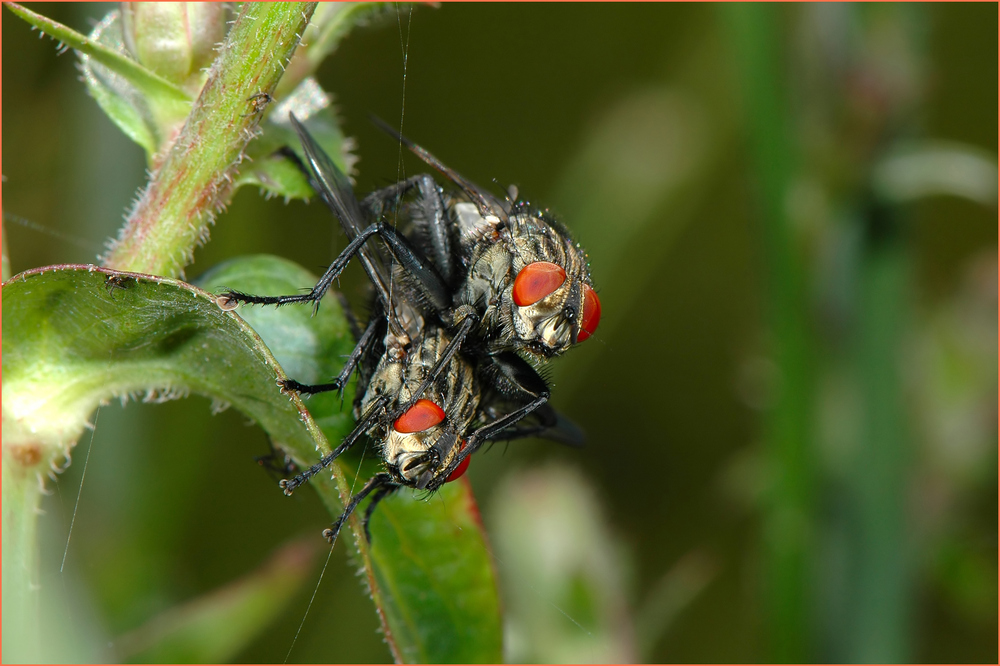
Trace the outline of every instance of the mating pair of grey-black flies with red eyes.
{"type": "Polygon", "coordinates": [[[285,494],[363,436],[377,441],[385,471],[369,479],[324,531],[333,542],[369,495],[374,493],[366,533],[386,495],[402,486],[433,491],[459,478],[487,442],[538,436],[582,445],[582,432],[547,404],[548,384],[532,365],[586,340],[601,318],[586,253],[566,229],[515,195],[501,199],[477,187],[384,125],[452,189],[422,174],[358,200],[302,123],[291,114],[289,121],[305,159],[286,154],[350,242],[308,293],[228,291],[220,305],[317,307],[355,256],[374,286],[375,302],[364,330],[355,327],[357,345],[332,382],[281,383],[285,391],[313,394],[340,390],[359,374],[357,425],[318,463],[283,480],[285,494]]]}

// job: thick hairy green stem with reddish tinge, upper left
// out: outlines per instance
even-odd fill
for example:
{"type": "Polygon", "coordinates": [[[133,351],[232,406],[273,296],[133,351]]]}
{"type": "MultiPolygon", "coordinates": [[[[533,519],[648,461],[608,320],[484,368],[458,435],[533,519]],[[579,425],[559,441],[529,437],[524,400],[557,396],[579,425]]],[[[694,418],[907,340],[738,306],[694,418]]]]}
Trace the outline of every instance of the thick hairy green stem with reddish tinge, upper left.
{"type": "Polygon", "coordinates": [[[260,116],[252,95],[273,92],[315,3],[244,3],[180,135],[104,257],[104,265],[175,277],[208,236],[232,191],[260,116]]]}

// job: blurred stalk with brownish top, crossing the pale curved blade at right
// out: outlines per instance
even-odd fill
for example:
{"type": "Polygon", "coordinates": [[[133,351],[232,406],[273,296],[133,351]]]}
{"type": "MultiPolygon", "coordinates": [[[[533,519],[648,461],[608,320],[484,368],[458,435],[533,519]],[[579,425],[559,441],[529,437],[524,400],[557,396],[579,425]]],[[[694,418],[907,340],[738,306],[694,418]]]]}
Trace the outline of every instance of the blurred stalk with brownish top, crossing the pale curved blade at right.
{"type": "MultiPolygon", "coordinates": [[[[908,427],[904,362],[914,331],[912,311],[912,219],[902,204],[911,197],[878,187],[878,171],[894,147],[919,136],[921,82],[926,52],[926,15],[918,7],[852,7],[847,17],[861,36],[854,56],[876,83],[880,113],[863,126],[875,137],[858,166],[863,180],[849,203],[860,209],[851,222],[860,247],[853,269],[852,330],[847,355],[858,405],[857,442],[849,449],[841,485],[846,507],[843,537],[847,570],[843,580],[847,613],[839,626],[840,648],[832,656],[850,662],[906,662],[913,658],[911,607],[914,597],[916,535],[912,529],[911,487],[916,443],[908,427]],[[886,35],[895,39],[885,39],[886,35]],[[882,38],[891,49],[877,56],[866,48],[882,38]],[[909,72],[892,80],[888,65],[909,72]],[[902,81],[902,83],[900,83],[902,81]]],[[[855,93],[857,94],[857,93],[855,93]]],[[[857,102],[855,102],[857,104],[857,102]]],[[[906,162],[904,162],[906,163],[906,162]]],[[[918,162],[908,161],[911,167],[918,162]]],[[[942,173],[952,170],[941,168],[942,173]]],[[[905,191],[905,188],[903,188],[905,191]]],[[[826,656],[826,655],[824,655],[826,656]]]]}

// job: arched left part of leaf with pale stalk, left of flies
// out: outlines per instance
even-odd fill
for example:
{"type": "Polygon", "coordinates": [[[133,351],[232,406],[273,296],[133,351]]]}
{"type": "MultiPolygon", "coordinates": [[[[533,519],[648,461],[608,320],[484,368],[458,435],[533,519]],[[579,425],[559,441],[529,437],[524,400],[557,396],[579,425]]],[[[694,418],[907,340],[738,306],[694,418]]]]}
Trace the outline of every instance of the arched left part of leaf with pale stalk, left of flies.
{"type": "MultiPolygon", "coordinates": [[[[58,266],[15,276],[3,299],[3,604],[12,620],[4,625],[4,659],[24,661],[38,658],[41,641],[41,480],[100,403],[139,392],[161,399],[197,392],[236,406],[303,463],[329,447],[298,398],[277,390],[284,375],[260,337],[200,289],[58,266]]],[[[315,335],[334,337],[337,317],[336,303],[324,308],[310,321],[315,335]]],[[[332,482],[325,487],[328,501],[337,501],[332,482]]]]}

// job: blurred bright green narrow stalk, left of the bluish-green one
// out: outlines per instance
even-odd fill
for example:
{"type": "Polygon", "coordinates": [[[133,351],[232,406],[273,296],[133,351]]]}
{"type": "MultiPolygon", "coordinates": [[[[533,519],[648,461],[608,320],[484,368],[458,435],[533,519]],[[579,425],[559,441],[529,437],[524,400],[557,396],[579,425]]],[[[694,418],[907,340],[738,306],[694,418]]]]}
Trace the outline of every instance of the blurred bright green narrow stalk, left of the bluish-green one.
{"type": "Polygon", "coordinates": [[[809,660],[812,644],[808,565],[816,473],[812,459],[813,372],[802,267],[785,203],[795,158],[788,136],[788,90],[778,47],[779,9],[727,5],[761,214],[765,320],[778,369],[765,443],[773,486],[764,513],[765,585],[772,652],[779,662],[809,660]]]}

